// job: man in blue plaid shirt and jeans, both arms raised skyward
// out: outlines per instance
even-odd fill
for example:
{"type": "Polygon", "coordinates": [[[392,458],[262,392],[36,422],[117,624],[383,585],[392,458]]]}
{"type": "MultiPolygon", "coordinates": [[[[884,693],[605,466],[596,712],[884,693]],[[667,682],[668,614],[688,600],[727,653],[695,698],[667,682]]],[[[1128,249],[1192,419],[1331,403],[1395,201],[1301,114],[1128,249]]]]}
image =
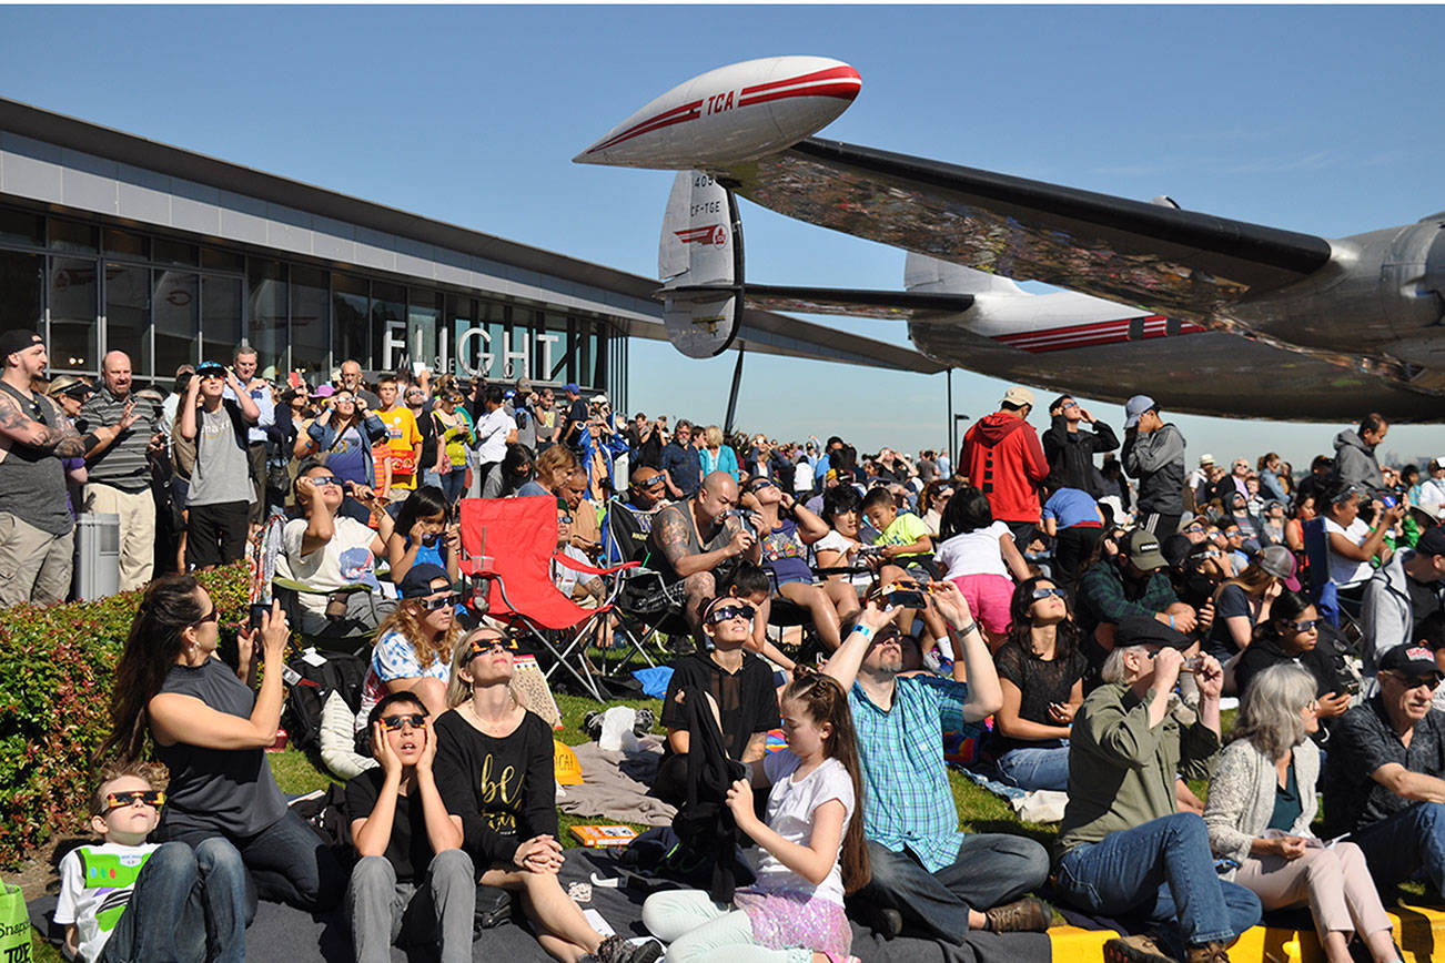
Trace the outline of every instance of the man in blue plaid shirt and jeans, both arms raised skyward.
{"type": "MultiPolygon", "coordinates": [[[[1049,907],[1023,894],[1049,873],[1043,846],[1023,836],[964,833],[944,764],[944,732],[980,735],[1003,693],[988,647],[952,582],[931,586],[948,622],[955,680],[905,676],[903,608],[870,601],[827,674],[848,690],[863,762],[863,827],[873,879],[858,904],[876,928],[961,943],[968,930],[1043,931],[1049,907]],[[968,681],[961,681],[967,679],[968,681]]],[[[844,625],[848,629],[848,625],[844,625]]],[[[1045,951],[1048,951],[1045,949],[1045,951]]]]}

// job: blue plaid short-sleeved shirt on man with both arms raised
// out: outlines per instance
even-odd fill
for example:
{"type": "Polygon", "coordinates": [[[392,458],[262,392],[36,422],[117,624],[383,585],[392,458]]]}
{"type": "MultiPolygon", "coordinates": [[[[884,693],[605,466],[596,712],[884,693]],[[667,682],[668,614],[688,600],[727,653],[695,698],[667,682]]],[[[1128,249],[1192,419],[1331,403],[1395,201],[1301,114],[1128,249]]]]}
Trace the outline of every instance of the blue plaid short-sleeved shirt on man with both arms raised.
{"type": "Polygon", "coordinates": [[[929,872],[958,859],[964,833],[944,764],[944,732],[984,731],[964,722],[968,686],[936,676],[900,677],[893,706],[879,709],[853,684],[848,706],[863,762],[863,832],[884,849],[909,849],[929,872]]]}

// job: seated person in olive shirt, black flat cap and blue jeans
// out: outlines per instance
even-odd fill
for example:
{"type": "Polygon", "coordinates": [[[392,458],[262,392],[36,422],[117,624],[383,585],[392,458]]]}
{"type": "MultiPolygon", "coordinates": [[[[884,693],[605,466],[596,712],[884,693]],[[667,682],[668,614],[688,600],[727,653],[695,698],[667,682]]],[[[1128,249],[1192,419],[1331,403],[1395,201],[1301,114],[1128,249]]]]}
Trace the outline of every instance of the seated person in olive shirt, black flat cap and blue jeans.
{"type": "Polygon", "coordinates": [[[1186,710],[1172,706],[1188,647],[1155,618],[1123,619],[1104,684],[1069,732],[1059,895],[1087,912],[1143,915],[1169,947],[1146,936],[1110,940],[1108,963],[1227,962],[1224,947],[1260,918],[1259,897],[1215,875],[1204,820],[1176,811],[1175,774],[1207,777],[1220,751],[1224,670],[1215,658],[1194,663],[1198,716],[1182,719],[1186,710]]]}

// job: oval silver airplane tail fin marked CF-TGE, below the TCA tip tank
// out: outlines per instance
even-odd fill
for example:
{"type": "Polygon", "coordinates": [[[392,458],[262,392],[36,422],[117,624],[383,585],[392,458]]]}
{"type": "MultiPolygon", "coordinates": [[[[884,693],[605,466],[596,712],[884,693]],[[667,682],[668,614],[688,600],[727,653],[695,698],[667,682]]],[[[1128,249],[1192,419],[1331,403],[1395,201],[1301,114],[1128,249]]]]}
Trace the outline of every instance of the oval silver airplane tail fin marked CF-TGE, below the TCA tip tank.
{"type": "Polygon", "coordinates": [[[743,238],[733,193],[698,170],[672,182],[657,241],[663,325],[689,358],[733,344],[741,313],[743,238]]]}

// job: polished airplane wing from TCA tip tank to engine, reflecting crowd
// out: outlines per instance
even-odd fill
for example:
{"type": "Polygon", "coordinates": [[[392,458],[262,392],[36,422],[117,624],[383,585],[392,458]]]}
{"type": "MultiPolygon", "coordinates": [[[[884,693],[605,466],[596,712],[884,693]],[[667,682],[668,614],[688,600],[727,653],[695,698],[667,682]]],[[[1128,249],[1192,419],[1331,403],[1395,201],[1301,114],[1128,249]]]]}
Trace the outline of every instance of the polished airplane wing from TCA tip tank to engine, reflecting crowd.
{"type": "Polygon", "coordinates": [[[1211,328],[1331,256],[1309,234],[816,137],[709,173],[811,224],[1211,328]]]}

